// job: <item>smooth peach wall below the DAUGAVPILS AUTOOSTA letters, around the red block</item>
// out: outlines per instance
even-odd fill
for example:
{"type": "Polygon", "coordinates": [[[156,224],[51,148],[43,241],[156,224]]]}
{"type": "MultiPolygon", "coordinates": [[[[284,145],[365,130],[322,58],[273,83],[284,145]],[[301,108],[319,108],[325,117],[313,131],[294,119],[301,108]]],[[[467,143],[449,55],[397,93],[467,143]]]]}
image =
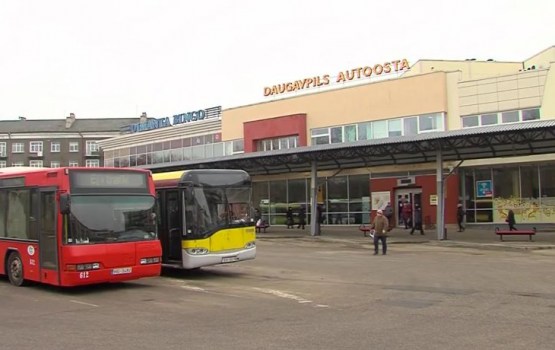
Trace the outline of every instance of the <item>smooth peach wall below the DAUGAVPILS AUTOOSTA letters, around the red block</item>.
{"type": "Polygon", "coordinates": [[[243,138],[243,123],[291,114],[307,114],[310,129],[446,112],[445,72],[358,85],[337,90],[262,102],[222,111],[222,139],[243,138]]]}

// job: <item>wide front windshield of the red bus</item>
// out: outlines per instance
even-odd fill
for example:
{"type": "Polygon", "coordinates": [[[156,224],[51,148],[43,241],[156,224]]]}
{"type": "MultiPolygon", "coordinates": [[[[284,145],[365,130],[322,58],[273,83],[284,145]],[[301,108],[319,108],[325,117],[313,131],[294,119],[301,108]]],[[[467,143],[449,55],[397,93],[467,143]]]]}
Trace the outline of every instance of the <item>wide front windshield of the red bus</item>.
{"type": "Polygon", "coordinates": [[[73,195],[67,244],[156,239],[153,196],[73,195]]]}

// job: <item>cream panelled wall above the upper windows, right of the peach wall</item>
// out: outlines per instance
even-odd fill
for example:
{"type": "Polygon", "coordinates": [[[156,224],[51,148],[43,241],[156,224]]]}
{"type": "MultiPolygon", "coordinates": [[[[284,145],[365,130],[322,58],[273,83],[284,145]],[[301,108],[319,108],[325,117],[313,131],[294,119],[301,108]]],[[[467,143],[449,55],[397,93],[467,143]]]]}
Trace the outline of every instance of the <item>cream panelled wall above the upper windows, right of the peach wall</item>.
{"type": "MultiPolygon", "coordinates": [[[[459,83],[461,116],[499,112],[542,104],[548,70],[530,70],[459,83]]],[[[543,115],[542,115],[543,119],[543,115]]]]}

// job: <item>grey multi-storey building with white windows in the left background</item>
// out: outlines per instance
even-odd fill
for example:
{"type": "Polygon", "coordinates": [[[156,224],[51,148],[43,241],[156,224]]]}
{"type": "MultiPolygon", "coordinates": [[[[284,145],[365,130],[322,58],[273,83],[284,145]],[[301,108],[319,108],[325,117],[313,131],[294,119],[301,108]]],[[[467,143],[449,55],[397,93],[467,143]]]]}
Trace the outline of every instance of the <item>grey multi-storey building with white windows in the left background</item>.
{"type": "Polygon", "coordinates": [[[99,167],[103,154],[97,142],[121,134],[138,118],[0,121],[0,168],[12,166],[99,167]]]}

